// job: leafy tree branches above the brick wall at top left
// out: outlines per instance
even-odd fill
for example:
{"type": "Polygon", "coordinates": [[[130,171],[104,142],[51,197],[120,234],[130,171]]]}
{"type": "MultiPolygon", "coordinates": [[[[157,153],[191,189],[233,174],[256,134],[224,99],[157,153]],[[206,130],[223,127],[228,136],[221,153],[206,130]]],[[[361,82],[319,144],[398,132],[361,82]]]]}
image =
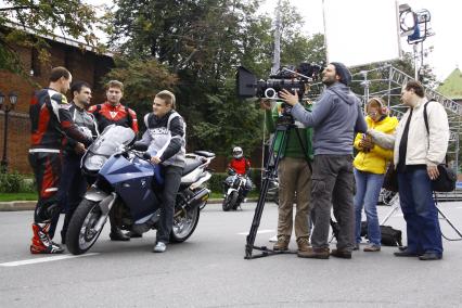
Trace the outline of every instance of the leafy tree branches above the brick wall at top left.
{"type": "Polygon", "coordinates": [[[39,60],[50,57],[46,38],[59,35],[98,46],[94,35],[95,11],[80,0],[4,0],[0,9],[0,69],[27,76],[13,43],[34,48],[39,60]]]}

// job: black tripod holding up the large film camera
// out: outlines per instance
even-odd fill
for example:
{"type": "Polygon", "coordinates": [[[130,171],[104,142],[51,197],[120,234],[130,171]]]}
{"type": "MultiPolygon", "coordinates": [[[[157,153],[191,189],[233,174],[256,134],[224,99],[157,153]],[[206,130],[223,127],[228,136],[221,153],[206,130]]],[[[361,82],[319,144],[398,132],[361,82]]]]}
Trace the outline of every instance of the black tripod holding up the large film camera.
{"type": "Polygon", "coordinates": [[[299,131],[298,131],[298,129],[296,129],[297,127],[294,124],[294,119],[292,118],[292,116],[281,117],[278,120],[274,138],[272,139],[272,142],[271,142],[269,158],[268,158],[267,165],[265,167],[265,171],[264,171],[264,181],[262,181],[262,184],[261,184],[260,195],[258,197],[257,207],[255,208],[255,214],[254,214],[254,219],[252,221],[251,231],[248,232],[248,235],[247,235],[247,243],[245,245],[245,257],[244,257],[245,259],[254,259],[254,258],[267,257],[267,256],[270,256],[270,255],[291,253],[291,252],[286,252],[286,251],[283,251],[283,252],[278,251],[277,252],[277,251],[270,249],[266,246],[255,246],[255,238],[257,236],[258,227],[260,226],[261,214],[264,211],[265,201],[266,201],[266,197],[267,197],[267,193],[268,193],[270,182],[272,180],[274,180],[275,177],[277,177],[278,165],[279,165],[279,161],[281,159],[281,153],[282,153],[283,150],[285,150],[285,146],[287,144],[288,132],[294,128],[295,128],[295,132],[296,132],[297,138],[298,138],[298,142],[300,144],[300,147],[304,151],[305,159],[307,161],[308,166],[310,168],[310,171],[312,172],[312,167],[311,167],[311,164],[309,162],[307,151],[306,151],[304,143],[301,141],[301,137],[299,134],[299,131]],[[275,145],[275,141],[277,141],[279,136],[281,136],[281,143],[280,143],[280,146],[278,147],[278,152],[274,156],[274,145],[275,145]],[[274,161],[274,162],[272,163],[272,161],[274,161]],[[253,255],[252,253],[253,253],[254,249],[261,251],[261,253],[257,254],[257,255],[253,255]]]}

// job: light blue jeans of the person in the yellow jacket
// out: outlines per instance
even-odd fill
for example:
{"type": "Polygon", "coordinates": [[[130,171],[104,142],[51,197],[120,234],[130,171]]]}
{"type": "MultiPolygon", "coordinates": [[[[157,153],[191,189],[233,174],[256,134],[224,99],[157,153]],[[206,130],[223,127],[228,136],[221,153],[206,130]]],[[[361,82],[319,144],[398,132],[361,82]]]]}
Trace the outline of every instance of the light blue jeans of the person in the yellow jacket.
{"type": "Polygon", "coordinates": [[[382,234],[381,227],[378,226],[377,201],[384,181],[384,175],[364,172],[355,168],[355,180],[356,242],[361,242],[361,213],[362,207],[364,207],[365,218],[368,219],[369,242],[380,246],[382,234]]]}

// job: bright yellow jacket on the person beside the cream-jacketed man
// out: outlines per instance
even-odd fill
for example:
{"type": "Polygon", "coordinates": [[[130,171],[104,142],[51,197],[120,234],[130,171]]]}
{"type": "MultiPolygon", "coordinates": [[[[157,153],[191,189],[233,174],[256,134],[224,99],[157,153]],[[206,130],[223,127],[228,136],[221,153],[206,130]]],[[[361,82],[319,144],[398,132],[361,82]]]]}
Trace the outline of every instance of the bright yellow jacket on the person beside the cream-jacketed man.
{"type": "MultiPolygon", "coordinates": [[[[368,124],[368,128],[373,128],[384,133],[394,133],[398,126],[398,119],[389,116],[380,121],[374,121],[367,116],[365,123],[368,124]]],[[[376,175],[385,174],[387,162],[393,159],[393,150],[385,150],[375,144],[370,152],[363,152],[362,147],[359,146],[361,138],[362,133],[358,133],[355,139],[355,147],[359,151],[352,163],[355,168],[376,175]]]]}

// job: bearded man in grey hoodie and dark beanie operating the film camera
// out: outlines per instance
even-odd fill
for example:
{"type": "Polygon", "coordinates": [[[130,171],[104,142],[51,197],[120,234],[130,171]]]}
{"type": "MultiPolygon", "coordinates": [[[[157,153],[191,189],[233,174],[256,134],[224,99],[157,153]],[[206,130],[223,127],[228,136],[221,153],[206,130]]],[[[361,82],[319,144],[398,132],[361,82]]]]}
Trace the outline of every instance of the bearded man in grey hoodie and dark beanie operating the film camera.
{"type": "Polygon", "coordinates": [[[292,115],[307,127],[315,128],[313,174],[311,195],[315,228],[311,245],[299,257],[328,259],[330,255],[351,258],[355,241],[355,211],[352,175],[352,141],[355,131],[365,132],[368,127],[361,112],[361,103],[349,90],[351,74],[338,62],[330,63],[323,70],[326,86],[312,112],[298,102],[298,94],[287,90],[280,97],[293,106],[292,115]],[[337,248],[330,253],[329,229],[331,206],[338,221],[337,248]]]}

